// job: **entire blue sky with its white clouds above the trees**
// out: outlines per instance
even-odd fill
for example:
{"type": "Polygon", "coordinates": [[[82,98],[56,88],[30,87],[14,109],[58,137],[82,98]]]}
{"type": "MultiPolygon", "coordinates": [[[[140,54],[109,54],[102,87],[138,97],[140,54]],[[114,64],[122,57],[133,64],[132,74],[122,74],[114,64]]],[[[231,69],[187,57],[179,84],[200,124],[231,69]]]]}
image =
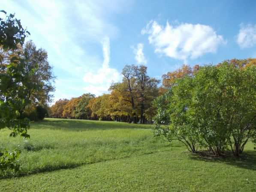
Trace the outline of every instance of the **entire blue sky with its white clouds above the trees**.
{"type": "Polygon", "coordinates": [[[184,63],[256,57],[255,0],[2,0],[0,9],[48,51],[55,101],[107,93],[126,64],[161,79],[184,63]]]}

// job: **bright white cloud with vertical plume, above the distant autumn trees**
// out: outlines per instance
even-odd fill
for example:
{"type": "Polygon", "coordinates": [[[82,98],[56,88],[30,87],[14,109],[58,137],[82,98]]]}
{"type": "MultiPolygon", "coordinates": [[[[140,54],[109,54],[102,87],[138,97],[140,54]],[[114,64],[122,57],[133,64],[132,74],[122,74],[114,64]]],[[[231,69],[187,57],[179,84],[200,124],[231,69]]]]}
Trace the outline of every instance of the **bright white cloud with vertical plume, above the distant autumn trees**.
{"type": "Polygon", "coordinates": [[[87,72],[83,78],[84,82],[87,83],[84,90],[96,96],[107,93],[111,83],[120,81],[121,79],[121,75],[117,69],[109,68],[110,43],[108,37],[105,37],[102,41],[102,51],[104,57],[102,67],[96,72],[87,72]]]}

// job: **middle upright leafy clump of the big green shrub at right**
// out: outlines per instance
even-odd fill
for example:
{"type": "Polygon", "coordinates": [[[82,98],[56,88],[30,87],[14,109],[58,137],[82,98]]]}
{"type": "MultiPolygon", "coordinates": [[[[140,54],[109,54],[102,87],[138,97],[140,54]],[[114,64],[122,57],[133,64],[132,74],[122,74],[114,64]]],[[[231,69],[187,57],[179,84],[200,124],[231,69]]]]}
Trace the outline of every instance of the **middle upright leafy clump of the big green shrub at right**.
{"type": "MultiPolygon", "coordinates": [[[[199,70],[194,80],[193,110],[198,129],[206,142],[206,147],[218,155],[226,149],[229,130],[228,119],[224,117],[229,73],[221,73],[215,66],[205,66],[199,70]],[[223,81],[224,82],[223,82],[223,81]]],[[[228,71],[227,71],[228,72],[228,71]]]]}

